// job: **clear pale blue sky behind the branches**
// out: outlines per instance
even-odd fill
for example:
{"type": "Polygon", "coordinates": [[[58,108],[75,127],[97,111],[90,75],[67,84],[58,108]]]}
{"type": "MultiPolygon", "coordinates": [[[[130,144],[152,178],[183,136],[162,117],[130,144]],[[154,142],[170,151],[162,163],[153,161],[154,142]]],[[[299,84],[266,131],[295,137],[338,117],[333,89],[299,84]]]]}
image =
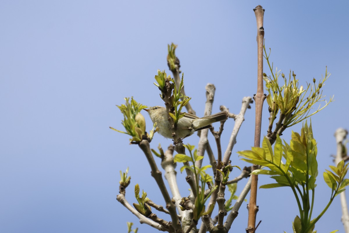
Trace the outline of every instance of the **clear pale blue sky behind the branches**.
{"type": "MultiPolygon", "coordinates": [[[[257,89],[256,21],[253,8],[265,9],[264,28],[270,59],[284,73],[295,71],[303,85],[332,73],[324,86],[335,102],[312,117],[318,141],[319,176],[314,216],[331,195],[322,172],[333,165],[333,134],[348,127],[348,1],[1,1],[0,2],[0,232],[156,232],[118,201],[119,170],[129,167],[126,190],[133,187],[164,204],[150,167],[122,130],[115,105],[134,96],[142,104],[161,105],[153,85],[157,69],[166,70],[167,44],[184,72],[185,89],[198,116],[203,115],[205,86],[214,83],[214,112],[220,105],[238,113],[244,96],[257,89]]],[[[265,72],[270,73],[265,66],[265,72]]],[[[245,115],[231,160],[253,145],[254,108],[245,115]]],[[[268,125],[264,105],[262,134],[268,125]]],[[[145,113],[145,112],[144,112],[145,113]]],[[[146,116],[148,131],[151,121],[146,116]]],[[[223,151],[233,127],[225,124],[223,151]]],[[[283,134],[289,140],[291,130],[283,134]]],[[[212,136],[210,136],[214,144],[212,136]]],[[[197,144],[192,136],[186,142],[197,144]]],[[[163,148],[171,140],[156,134],[163,148]]],[[[158,159],[159,162],[159,159],[158,159]]],[[[205,159],[204,163],[208,163],[205,159]]],[[[234,169],[231,178],[239,171],[234,169]]],[[[187,196],[183,183],[181,194],[187,196]]],[[[238,194],[247,180],[238,183],[238,194]]],[[[259,177],[259,185],[270,183],[259,177]]],[[[249,196],[247,196],[248,198],[249,196]]],[[[349,194],[347,194],[349,198],[349,194]]],[[[258,232],[292,232],[298,214],[289,188],[259,189],[258,232]]],[[[169,220],[169,217],[159,214],[169,220]]],[[[244,232],[246,203],[232,228],[244,232]]],[[[336,198],[315,230],[343,232],[336,198]]]]}

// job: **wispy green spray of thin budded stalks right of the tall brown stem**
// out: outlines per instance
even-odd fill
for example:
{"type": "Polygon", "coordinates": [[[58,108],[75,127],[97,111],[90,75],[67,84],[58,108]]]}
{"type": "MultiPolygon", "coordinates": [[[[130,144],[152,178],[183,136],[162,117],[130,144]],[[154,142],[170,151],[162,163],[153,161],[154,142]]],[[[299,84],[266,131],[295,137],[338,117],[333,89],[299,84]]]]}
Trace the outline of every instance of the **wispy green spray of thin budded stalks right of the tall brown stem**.
{"type": "MultiPolygon", "coordinates": [[[[263,79],[266,82],[267,103],[269,105],[269,128],[267,137],[271,139],[272,143],[276,139],[276,134],[281,135],[281,133],[288,127],[295,125],[304,119],[316,114],[317,112],[324,109],[329,103],[333,101],[333,97],[327,102],[322,95],[322,87],[325,85],[325,81],[329,78],[330,74],[327,73],[327,67],[325,71],[325,77],[320,79],[318,84],[316,80],[313,79],[313,85],[307,84],[304,89],[303,86],[299,86],[298,79],[296,79],[296,74],[291,71],[289,73],[289,78],[286,79],[285,75],[281,73],[281,79],[284,84],[280,83],[280,71],[275,71],[273,73],[273,64],[270,65],[269,54],[267,54],[265,46],[264,57],[270,68],[272,75],[267,76],[263,73],[263,79]],[[321,107],[319,105],[318,109],[310,114],[310,110],[313,109],[313,105],[325,101],[325,105],[321,107]],[[277,114],[280,112],[278,122],[275,125],[274,131],[272,128],[274,126],[274,121],[277,114]]],[[[270,49],[269,49],[270,50],[270,49]]],[[[281,82],[282,82],[281,81],[281,82]]]]}

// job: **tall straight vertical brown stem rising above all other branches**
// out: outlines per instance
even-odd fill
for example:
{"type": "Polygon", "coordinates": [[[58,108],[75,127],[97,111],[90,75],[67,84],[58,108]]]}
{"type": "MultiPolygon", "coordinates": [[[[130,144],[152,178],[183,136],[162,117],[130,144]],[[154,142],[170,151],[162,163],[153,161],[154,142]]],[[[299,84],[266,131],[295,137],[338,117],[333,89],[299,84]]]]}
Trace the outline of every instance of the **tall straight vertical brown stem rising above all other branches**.
{"type": "MultiPolygon", "coordinates": [[[[263,16],[264,9],[262,6],[257,6],[254,10],[254,14],[257,20],[257,48],[258,48],[258,70],[257,70],[257,93],[253,97],[256,103],[256,122],[254,131],[254,146],[260,146],[261,137],[261,124],[262,124],[262,108],[265,95],[263,94],[263,39],[264,39],[264,28],[263,28],[263,16]]],[[[258,169],[258,165],[252,166],[252,171],[258,169]]],[[[258,211],[257,206],[257,182],[258,176],[252,175],[251,181],[251,193],[250,202],[248,203],[248,224],[246,232],[253,233],[256,224],[256,215],[258,211]]]]}

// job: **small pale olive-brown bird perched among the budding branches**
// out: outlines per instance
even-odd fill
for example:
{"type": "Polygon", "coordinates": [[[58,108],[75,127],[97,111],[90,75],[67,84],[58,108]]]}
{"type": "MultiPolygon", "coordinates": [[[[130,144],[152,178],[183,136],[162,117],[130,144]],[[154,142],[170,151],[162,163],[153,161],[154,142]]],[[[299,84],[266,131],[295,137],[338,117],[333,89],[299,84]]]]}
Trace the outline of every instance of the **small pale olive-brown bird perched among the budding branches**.
{"type": "MultiPolygon", "coordinates": [[[[144,109],[148,112],[151,121],[157,122],[159,133],[165,138],[172,138],[170,123],[167,119],[166,108],[155,106],[144,109]]],[[[214,115],[199,118],[193,114],[185,113],[185,116],[178,120],[176,133],[181,139],[191,136],[195,131],[211,128],[211,124],[228,119],[227,111],[218,112],[214,115]]]]}

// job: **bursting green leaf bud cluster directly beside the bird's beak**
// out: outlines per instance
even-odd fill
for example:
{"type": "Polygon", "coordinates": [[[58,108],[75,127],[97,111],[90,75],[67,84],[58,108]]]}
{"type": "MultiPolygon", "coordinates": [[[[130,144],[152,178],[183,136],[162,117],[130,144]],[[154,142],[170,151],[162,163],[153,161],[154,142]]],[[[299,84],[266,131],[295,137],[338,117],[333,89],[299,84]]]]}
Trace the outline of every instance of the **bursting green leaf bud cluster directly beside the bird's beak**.
{"type": "Polygon", "coordinates": [[[115,130],[120,133],[126,133],[132,138],[130,139],[131,143],[139,143],[142,140],[142,136],[145,135],[149,140],[151,140],[154,136],[154,133],[157,129],[154,130],[155,124],[153,125],[153,129],[150,130],[148,134],[146,132],[146,121],[140,111],[144,108],[148,108],[146,105],[142,105],[138,103],[131,97],[131,103],[129,103],[129,98],[124,98],[126,101],[125,104],[121,104],[117,107],[120,109],[121,113],[124,115],[124,121],[121,121],[122,125],[125,127],[126,132],[114,129],[109,127],[112,130],[115,130]]]}

